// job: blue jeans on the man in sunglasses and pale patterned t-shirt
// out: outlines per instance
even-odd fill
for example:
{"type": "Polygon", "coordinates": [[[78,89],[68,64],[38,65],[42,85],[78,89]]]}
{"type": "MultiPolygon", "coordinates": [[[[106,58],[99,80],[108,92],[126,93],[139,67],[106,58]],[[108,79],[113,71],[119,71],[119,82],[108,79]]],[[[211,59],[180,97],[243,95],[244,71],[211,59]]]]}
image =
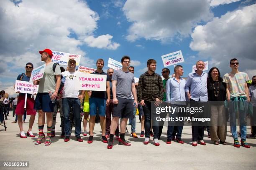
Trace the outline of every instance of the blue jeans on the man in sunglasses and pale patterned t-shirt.
{"type": "MultiPolygon", "coordinates": [[[[229,103],[229,115],[230,115],[230,128],[233,139],[238,139],[236,131],[236,116],[237,112],[234,110],[235,101],[229,103]]],[[[246,115],[248,110],[248,102],[244,101],[244,110],[238,111],[241,139],[246,139],[246,115]]]]}

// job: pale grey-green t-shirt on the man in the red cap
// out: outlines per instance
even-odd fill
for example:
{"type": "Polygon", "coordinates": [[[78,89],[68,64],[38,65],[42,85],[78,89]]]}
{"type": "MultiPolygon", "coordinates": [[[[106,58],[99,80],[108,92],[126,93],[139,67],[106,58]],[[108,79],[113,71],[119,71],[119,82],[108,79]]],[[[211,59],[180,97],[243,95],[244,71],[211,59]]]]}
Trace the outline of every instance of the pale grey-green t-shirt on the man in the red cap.
{"type": "Polygon", "coordinates": [[[56,87],[55,75],[61,75],[59,65],[56,65],[55,72],[52,66],[54,62],[46,65],[44,70],[44,77],[40,79],[38,92],[54,92],[56,87]]]}

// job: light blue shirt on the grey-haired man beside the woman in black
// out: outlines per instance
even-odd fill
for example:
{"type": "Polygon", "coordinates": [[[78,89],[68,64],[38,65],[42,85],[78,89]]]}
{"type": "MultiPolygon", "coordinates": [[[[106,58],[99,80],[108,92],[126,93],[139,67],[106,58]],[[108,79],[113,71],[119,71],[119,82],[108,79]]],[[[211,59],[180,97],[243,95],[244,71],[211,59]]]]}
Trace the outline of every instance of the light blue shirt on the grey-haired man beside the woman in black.
{"type": "Polygon", "coordinates": [[[189,92],[191,99],[195,101],[208,101],[207,95],[207,74],[202,72],[201,75],[197,73],[189,73],[187,76],[186,88],[185,91],[189,92]]]}

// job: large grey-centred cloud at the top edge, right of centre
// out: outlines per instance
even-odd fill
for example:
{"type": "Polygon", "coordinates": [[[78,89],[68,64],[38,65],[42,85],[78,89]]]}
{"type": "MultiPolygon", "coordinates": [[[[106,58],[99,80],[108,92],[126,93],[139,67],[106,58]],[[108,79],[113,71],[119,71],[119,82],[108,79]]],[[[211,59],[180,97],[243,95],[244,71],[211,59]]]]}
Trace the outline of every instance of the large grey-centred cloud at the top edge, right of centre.
{"type": "Polygon", "coordinates": [[[187,37],[192,28],[201,21],[213,17],[210,2],[206,0],[127,0],[123,7],[128,21],[127,40],[161,40],[166,42],[174,37],[187,37]]]}

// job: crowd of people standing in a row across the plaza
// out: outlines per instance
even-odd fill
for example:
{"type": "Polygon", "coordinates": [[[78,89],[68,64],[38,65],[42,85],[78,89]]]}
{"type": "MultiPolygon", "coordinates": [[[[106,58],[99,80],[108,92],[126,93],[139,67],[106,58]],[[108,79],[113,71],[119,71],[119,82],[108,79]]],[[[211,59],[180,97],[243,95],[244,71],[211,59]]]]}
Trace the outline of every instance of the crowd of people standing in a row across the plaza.
{"type": "MultiPolygon", "coordinates": [[[[89,138],[87,143],[93,142],[93,132],[95,121],[100,121],[102,130],[102,142],[108,143],[107,148],[112,149],[115,140],[120,145],[130,146],[131,143],[125,140],[125,130],[130,119],[131,136],[136,135],[136,111],[138,109],[141,122],[141,137],[144,137],[144,145],[150,142],[153,137],[154,145],[159,146],[159,139],[163,130],[164,122],[157,122],[154,119],[154,107],[171,105],[172,107],[205,107],[203,112],[210,112],[211,125],[198,125],[192,121],[192,146],[206,145],[204,142],[204,130],[207,128],[208,137],[215,145],[227,145],[227,122],[230,120],[230,129],[234,140],[234,146],[250,148],[246,141],[246,117],[251,111],[252,135],[256,135],[256,76],[252,77],[252,84],[248,88],[246,82],[249,77],[245,72],[238,71],[239,62],[236,58],[230,60],[231,72],[220,76],[217,67],[212,67],[208,74],[204,72],[205,63],[201,60],[196,62],[196,71],[189,73],[187,80],[183,78],[182,65],[174,67],[174,74],[170,77],[168,68],[162,69],[161,75],[155,72],[156,60],[147,61],[148,70],[143,73],[138,82],[134,79],[134,67],[130,66],[131,59],[123,56],[121,59],[122,69],[108,69],[105,73],[102,68],[104,60],[98,59],[96,62],[97,70],[91,74],[106,75],[106,91],[86,91],[75,90],[75,78],[77,77],[76,61],[68,61],[67,70],[51,61],[52,52],[49,49],[39,51],[41,60],[46,63],[44,77],[33,81],[34,85],[39,85],[36,98],[24,93],[18,94],[18,99],[10,103],[8,94],[1,91],[1,114],[7,120],[9,108],[13,106],[13,116],[16,114],[15,122],[20,128],[20,138],[35,137],[32,127],[38,111],[38,137],[35,145],[44,141],[46,146],[51,145],[51,138],[55,136],[56,115],[59,110],[61,118],[61,138],[65,142],[70,140],[71,130],[74,125],[74,135],[77,141],[82,142],[81,138],[81,112],[83,118],[83,135],[87,136],[87,122],[89,121],[89,138]],[[24,109],[26,98],[26,110],[24,109]],[[208,102],[215,104],[209,105],[208,102]],[[226,116],[228,108],[229,118],[226,116]],[[81,110],[82,109],[82,110],[81,110]],[[3,112],[3,114],[2,114],[3,112]],[[22,115],[31,115],[27,136],[23,130],[22,115]],[[46,115],[47,133],[44,133],[46,115]],[[89,117],[90,116],[90,117],[89,117]],[[112,119],[111,119],[112,116],[112,119]],[[236,119],[239,119],[241,141],[238,141],[236,130],[236,119]],[[119,120],[120,119],[120,120],[119,120]],[[119,136],[120,134],[120,136],[119,136]]],[[[26,64],[26,72],[18,75],[17,80],[29,81],[33,64],[26,64]]],[[[175,116],[184,116],[184,112],[174,112],[175,116]]],[[[166,117],[168,113],[162,117],[166,117]]],[[[203,115],[203,113],[201,114],[203,115]]],[[[191,114],[190,117],[198,117],[198,114],[191,114]]],[[[183,144],[182,130],[184,121],[178,124],[168,122],[167,141],[183,144]]]]}

